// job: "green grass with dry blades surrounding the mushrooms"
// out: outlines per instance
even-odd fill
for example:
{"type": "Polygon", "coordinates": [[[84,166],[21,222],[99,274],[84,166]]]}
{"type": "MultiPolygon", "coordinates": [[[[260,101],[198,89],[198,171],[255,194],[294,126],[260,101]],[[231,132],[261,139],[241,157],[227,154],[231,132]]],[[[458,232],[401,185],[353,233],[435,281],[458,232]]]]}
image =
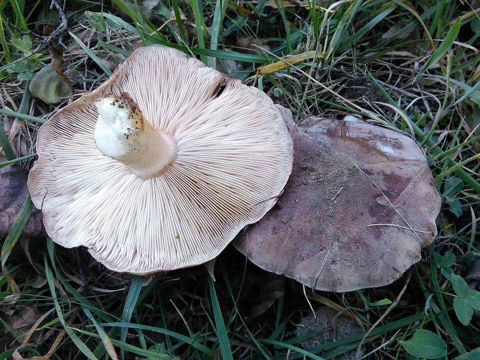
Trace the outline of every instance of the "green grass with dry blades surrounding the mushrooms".
{"type": "Polygon", "coordinates": [[[232,248],[218,257],[215,282],[202,266],[146,277],[112,273],[83,249],[20,236],[31,211],[26,198],[2,239],[0,359],[20,345],[23,357],[52,359],[328,359],[360,343],[368,358],[411,359],[402,341],[417,329],[446,342],[442,358],[480,357],[478,315],[468,325],[458,320],[448,279],[451,272],[465,277],[480,255],[477,2],[166,0],[149,17],[126,1],[66,1],[63,69],[75,92],[52,106],[27,85],[50,56],[31,54],[28,44],[38,40],[19,33],[56,26],[48,2],[0,3],[0,167],[28,168],[36,130],[58,107],[97,87],[136,46],[163,44],[254,84],[296,120],[357,114],[413,136],[442,209],[437,238],[398,281],[344,294],[306,289],[313,308],[346,311],[364,331],[304,348],[316,333],[295,335],[311,313],[300,284],[232,248]],[[20,334],[12,319],[21,309],[35,315],[20,334]]]}

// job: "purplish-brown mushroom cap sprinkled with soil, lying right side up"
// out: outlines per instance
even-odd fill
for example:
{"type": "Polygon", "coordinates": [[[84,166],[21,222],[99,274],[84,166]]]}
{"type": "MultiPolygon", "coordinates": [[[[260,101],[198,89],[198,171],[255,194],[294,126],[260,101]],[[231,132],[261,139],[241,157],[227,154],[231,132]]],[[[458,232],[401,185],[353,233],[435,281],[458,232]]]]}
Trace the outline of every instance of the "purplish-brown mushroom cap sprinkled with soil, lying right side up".
{"type": "Polygon", "coordinates": [[[440,197],[421,148],[363,121],[309,118],[288,127],[295,156],[284,192],[234,246],[318,290],[397,279],[436,235],[440,197]]]}

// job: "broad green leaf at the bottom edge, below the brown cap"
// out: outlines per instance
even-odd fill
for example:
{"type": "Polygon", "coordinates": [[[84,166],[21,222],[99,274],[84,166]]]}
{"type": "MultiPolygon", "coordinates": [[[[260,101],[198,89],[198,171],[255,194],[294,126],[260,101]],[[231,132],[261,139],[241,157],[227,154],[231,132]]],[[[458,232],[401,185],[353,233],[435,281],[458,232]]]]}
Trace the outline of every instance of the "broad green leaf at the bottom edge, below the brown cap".
{"type": "Polygon", "coordinates": [[[446,354],[446,343],[437,334],[424,330],[415,330],[413,336],[405,341],[400,341],[405,350],[418,357],[435,359],[446,354]]]}

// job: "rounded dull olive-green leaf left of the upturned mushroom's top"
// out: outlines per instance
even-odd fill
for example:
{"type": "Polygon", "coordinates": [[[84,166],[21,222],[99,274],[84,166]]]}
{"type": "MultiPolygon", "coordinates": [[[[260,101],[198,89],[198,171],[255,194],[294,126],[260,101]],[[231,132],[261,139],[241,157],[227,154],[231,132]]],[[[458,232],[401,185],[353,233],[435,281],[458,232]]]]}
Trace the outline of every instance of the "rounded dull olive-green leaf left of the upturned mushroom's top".
{"type": "Polygon", "coordinates": [[[73,94],[73,88],[68,78],[62,73],[56,72],[50,65],[46,65],[33,76],[28,89],[33,95],[48,104],[60,102],[63,97],[73,94]]]}

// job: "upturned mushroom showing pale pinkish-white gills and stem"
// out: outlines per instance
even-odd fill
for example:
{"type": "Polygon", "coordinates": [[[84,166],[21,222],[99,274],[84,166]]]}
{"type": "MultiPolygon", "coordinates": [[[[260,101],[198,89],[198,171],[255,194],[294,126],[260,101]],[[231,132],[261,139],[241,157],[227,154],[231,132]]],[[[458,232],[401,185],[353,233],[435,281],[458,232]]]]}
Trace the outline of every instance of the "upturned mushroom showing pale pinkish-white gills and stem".
{"type": "Polygon", "coordinates": [[[28,186],[48,235],[137,274],[217,256],[273,206],[293,158],[264,92],[164,46],[135,50],[36,147],[28,186]]]}

